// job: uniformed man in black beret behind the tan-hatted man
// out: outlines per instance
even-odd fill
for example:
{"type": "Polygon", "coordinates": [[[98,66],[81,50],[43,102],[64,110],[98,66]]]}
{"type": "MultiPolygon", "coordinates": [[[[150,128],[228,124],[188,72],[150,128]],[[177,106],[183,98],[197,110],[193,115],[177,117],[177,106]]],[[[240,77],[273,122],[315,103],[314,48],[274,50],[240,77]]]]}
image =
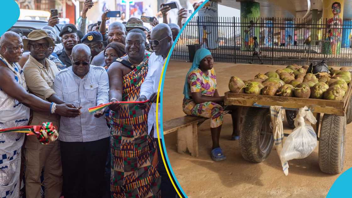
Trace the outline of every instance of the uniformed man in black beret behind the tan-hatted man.
{"type": "Polygon", "coordinates": [[[73,24],[67,24],[62,26],[59,36],[61,36],[62,45],[64,48],[62,51],[57,53],[60,61],[66,65],[66,67],[72,66],[71,63],[71,52],[72,48],[78,44],[80,38],[78,37],[77,28],[73,24]]]}

